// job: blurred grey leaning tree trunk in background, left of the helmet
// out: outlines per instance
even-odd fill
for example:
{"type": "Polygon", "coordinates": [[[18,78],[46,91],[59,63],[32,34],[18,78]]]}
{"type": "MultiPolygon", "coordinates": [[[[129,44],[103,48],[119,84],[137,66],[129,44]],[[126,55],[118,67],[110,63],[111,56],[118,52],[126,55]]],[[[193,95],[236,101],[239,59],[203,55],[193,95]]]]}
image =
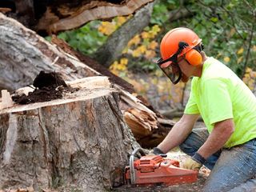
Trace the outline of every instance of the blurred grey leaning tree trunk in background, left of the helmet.
{"type": "Polygon", "coordinates": [[[109,67],[121,56],[122,50],[127,46],[130,39],[135,34],[141,33],[149,25],[153,6],[154,2],[151,2],[142,7],[141,10],[134,14],[133,18],[130,18],[118,30],[115,30],[106,43],[97,50],[94,59],[101,63],[102,66],[109,67]]]}

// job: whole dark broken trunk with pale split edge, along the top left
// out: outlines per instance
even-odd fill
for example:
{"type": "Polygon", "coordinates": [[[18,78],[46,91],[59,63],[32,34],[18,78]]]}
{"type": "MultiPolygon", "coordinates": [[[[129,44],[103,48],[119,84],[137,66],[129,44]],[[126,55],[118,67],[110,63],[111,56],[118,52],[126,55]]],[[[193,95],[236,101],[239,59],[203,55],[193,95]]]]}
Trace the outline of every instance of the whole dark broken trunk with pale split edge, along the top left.
{"type": "Polygon", "coordinates": [[[97,19],[133,14],[152,1],[154,0],[8,0],[0,2],[0,7],[4,8],[3,12],[10,10],[8,15],[18,19],[26,27],[42,34],[52,34],[78,28],[97,19]]]}

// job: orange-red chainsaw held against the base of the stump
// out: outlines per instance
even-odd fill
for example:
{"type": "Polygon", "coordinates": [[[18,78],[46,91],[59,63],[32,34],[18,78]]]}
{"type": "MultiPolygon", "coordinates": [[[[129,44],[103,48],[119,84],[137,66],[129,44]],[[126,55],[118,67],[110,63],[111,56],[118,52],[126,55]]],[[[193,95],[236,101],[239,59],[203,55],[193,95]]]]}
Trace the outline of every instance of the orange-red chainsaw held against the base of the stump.
{"type": "Polygon", "coordinates": [[[179,167],[179,162],[166,158],[166,154],[145,155],[141,148],[135,149],[130,155],[130,165],[126,166],[126,185],[150,186],[196,182],[198,171],[179,167]],[[140,152],[142,158],[134,161],[134,155],[140,152]]]}

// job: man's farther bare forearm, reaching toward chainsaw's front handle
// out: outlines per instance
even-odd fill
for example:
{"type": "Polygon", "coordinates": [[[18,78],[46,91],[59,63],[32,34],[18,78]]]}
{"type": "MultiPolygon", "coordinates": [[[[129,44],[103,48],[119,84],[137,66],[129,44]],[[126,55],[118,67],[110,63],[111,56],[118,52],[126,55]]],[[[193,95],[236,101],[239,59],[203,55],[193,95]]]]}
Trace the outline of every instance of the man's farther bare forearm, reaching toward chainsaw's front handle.
{"type": "Polygon", "coordinates": [[[166,138],[158,145],[158,149],[166,154],[169,150],[181,144],[191,133],[194,123],[198,118],[199,114],[183,114],[182,118],[175,123],[166,138]]]}

